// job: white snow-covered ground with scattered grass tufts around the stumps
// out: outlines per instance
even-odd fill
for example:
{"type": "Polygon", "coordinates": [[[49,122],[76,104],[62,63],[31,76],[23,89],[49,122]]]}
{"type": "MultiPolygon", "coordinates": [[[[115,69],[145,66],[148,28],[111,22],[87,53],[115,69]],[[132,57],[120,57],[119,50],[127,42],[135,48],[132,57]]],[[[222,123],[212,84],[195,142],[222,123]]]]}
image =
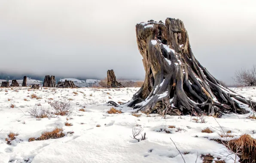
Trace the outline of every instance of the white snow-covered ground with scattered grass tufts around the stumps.
{"type": "MultiPolygon", "coordinates": [[[[122,110],[121,114],[107,114],[110,109],[107,101],[128,102],[138,89],[0,89],[0,163],[183,163],[171,139],[183,153],[186,163],[195,163],[197,155],[197,163],[202,163],[202,154],[234,163],[222,157],[221,154],[228,153],[224,145],[210,140],[223,139],[219,138],[217,130],[221,129],[213,117],[205,116],[205,123],[191,121],[190,116],[163,119],[154,114],[137,113],[140,117],[135,117],[128,107],[117,108],[122,110]],[[32,94],[39,98],[31,98],[32,94]],[[70,116],[38,119],[27,112],[36,105],[50,107],[48,101],[61,98],[71,100],[73,112],[70,116]],[[12,104],[14,108],[10,107],[12,104]],[[85,112],[79,111],[84,108],[85,112]],[[65,126],[66,122],[73,126],[65,126]],[[134,126],[144,127],[142,133],[146,133],[146,140],[131,139],[134,126]],[[29,138],[38,138],[56,127],[62,127],[66,135],[28,142],[29,138]],[[201,132],[207,127],[213,133],[201,132]],[[74,133],[67,133],[70,131],[74,133]],[[8,145],[5,139],[10,132],[18,136],[8,145]]],[[[232,89],[256,100],[255,88],[232,89]]],[[[247,119],[247,116],[231,114],[216,120],[225,132],[230,130],[234,135],[229,139],[245,133],[256,138],[256,120],[247,119]]]]}

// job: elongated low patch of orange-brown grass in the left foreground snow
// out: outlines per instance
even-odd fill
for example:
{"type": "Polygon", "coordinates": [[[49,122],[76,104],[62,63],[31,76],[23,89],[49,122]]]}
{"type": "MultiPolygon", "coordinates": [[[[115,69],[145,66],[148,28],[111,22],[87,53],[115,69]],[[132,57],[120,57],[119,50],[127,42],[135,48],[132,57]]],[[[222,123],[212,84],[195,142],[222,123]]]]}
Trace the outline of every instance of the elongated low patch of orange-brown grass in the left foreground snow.
{"type": "Polygon", "coordinates": [[[51,132],[45,132],[43,133],[39,138],[35,139],[35,138],[30,138],[28,139],[28,142],[32,142],[35,140],[47,140],[47,139],[58,139],[58,138],[62,138],[65,136],[64,133],[62,133],[63,129],[62,128],[58,128],[56,127],[53,131],[51,132]]]}

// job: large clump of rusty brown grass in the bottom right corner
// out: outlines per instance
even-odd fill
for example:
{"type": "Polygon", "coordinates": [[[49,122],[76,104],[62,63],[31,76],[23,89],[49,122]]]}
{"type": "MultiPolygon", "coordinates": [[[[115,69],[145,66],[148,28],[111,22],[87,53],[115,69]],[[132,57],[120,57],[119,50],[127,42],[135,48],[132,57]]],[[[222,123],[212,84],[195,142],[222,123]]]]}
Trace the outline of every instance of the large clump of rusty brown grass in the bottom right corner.
{"type": "Polygon", "coordinates": [[[229,146],[233,152],[236,152],[237,147],[241,147],[243,151],[239,156],[241,163],[253,163],[256,160],[256,139],[250,135],[244,134],[239,139],[229,141],[229,146]]]}

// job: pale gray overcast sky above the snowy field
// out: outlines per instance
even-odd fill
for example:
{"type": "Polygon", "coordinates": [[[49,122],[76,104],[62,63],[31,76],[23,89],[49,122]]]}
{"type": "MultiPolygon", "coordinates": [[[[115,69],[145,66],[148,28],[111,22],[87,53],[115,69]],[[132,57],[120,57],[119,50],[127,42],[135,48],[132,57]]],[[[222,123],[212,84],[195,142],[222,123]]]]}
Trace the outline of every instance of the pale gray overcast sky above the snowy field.
{"type": "Polygon", "coordinates": [[[256,64],[255,0],[0,0],[1,71],[143,79],[135,25],[180,18],[195,57],[231,83],[256,64]]]}

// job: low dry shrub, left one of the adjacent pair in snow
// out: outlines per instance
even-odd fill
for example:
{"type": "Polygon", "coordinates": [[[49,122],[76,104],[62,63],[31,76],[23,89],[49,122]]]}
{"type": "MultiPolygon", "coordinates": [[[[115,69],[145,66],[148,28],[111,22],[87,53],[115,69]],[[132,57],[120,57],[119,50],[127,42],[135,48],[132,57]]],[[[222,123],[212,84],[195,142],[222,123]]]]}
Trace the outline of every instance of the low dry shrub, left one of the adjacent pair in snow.
{"type": "Polygon", "coordinates": [[[35,117],[35,118],[50,118],[51,116],[51,109],[50,108],[44,108],[42,106],[34,106],[28,110],[28,113],[35,117]]]}

